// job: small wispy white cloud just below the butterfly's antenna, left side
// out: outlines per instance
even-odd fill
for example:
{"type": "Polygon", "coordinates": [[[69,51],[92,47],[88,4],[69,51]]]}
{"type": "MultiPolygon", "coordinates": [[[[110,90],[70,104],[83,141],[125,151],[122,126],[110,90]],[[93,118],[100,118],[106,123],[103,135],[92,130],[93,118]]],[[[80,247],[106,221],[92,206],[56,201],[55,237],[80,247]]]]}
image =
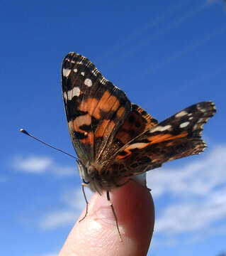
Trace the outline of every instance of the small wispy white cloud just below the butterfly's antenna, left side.
{"type": "Polygon", "coordinates": [[[77,174],[76,164],[74,166],[59,166],[50,157],[46,156],[16,156],[13,159],[13,167],[17,171],[28,174],[43,174],[45,172],[57,176],[72,176],[77,174]]]}

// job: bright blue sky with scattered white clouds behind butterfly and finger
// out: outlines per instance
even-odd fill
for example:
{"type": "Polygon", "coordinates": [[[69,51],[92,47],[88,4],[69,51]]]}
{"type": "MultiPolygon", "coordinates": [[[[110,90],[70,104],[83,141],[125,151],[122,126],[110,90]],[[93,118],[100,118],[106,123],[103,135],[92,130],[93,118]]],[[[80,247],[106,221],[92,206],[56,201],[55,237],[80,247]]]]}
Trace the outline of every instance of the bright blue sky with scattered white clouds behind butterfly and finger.
{"type": "Polygon", "coordinates": [[[160,121],[213,100],[208,149],[147,174],[149,255],[226,250],[226,13],[220,0],[1,1],[1,255],[56,256],[84,207],[60,66],[76,51],[160,121]],[[13,246],[12,246],[13,241],[13,246]]]}

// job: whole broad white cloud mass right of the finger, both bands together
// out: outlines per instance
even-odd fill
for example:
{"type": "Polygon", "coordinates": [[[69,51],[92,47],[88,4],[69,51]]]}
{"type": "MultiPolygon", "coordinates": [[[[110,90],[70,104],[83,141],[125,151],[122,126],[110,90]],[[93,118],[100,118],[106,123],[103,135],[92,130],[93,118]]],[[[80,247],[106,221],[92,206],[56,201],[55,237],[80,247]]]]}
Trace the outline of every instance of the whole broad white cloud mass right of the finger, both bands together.
{"type": "Polygon", "coordinates": [[[217,146],[187,166],[152,171],[147,184],[153,197],[167,194],[174,198],[174,203],[157,214],[156,232],[176,235],[195,231],[197,237],[198,231],[217,228],[217,221],[226,223],[225,167],[226,146],[217,146]]]}

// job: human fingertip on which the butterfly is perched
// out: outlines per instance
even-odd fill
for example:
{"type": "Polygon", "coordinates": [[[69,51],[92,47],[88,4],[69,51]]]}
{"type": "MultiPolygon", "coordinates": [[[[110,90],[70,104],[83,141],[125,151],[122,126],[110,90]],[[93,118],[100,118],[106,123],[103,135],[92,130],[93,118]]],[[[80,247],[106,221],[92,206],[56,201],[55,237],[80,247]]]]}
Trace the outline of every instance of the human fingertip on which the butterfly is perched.
{"type": "MultiPolygon", "coordinates": [[[[111,192],[118,218],[120,241],[113,212],[106,198],[94,193],[86,218],[77,221],[59,256],[145,256],[154,229],[154,203],[147,190],[136,182],[111,192]]],[[[85,210],[79,219],[83,218],[85,210]]]]}

